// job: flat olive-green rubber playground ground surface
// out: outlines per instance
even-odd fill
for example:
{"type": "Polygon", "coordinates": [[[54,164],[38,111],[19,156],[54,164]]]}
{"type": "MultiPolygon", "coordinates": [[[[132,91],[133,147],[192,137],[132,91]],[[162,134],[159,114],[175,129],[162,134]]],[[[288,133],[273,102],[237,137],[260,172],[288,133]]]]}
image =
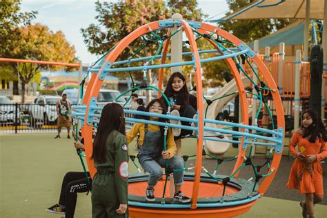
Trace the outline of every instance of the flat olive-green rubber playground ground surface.
{"type": "MultiPolygon", "coordinates": [[[[46,212],[46,208],[58,203],[63,175],[67,171],[82,171],[83,168],[72,146],[73,140],[66,139],[64,132],[61,139],[54,139],[54,136],[55,133],[0,135],[0,217],[61,217],[46,212]]],[[[195,140],[185,139],[182,148],[183,155],[193,155],[195,140]]],[[[130,146],[130,154],[133,153],[136,150],[130,146]]],[[[225,156],[236,154],[237,148],[230,148],[225,156]]],[[[206,160],[205,164],[212,164],[212,161],[206,160]]],[[[289,164],[291,161],[288,161],[289,164]]],[[[131,163],[130,171],[135,171],[131,163]]],[[[280,176],[287,178],[288,174],[284,174],[280,176]]],[[[277,176],[273,184],[286,186],[284,180],[277,176]]],[[[325,186],[326,183],[325,175],[325,186]]],[[[273,194],[268,190],[265,195],[270,197],[262,197],[248,213],[240,217],[301,217],[301,195],[297,195],[296,190],[291,192],[295,197],[293,194],[293,197],[288,197],[285,193],[278,193],[279,190],[285,192],[279,188],[273,190],[273,194]]],[[[315,206],[315,211],[316,217],[327,217],[326,199],[323,204],[315,206]]],[[[91,217],[90,195],[79,194],[75,217],[91,217]]]]}

